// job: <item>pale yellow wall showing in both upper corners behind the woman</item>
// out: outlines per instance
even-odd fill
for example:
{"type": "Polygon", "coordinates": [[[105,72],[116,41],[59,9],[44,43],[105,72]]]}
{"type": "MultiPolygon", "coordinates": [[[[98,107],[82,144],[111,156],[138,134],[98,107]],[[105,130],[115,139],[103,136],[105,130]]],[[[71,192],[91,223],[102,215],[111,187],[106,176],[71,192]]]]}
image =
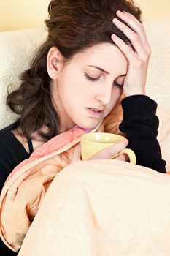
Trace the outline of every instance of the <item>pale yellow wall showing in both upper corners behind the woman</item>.
{"type": "MultiPolygon", "coordinates": [[[[134,0],[143,20],[170,17],[170,0],[134,0]]],[[[0,0],[0,31],[44,26],[50,0],[0,0]]]]}

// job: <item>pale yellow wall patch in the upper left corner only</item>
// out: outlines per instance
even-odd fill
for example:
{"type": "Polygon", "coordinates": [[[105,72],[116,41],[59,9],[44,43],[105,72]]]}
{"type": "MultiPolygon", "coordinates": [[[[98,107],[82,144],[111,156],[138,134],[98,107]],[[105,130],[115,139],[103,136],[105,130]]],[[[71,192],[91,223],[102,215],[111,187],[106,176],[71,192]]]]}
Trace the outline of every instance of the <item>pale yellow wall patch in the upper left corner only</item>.
{"type": "Polygon", "coordinates": [[[44,26],[50,0],[0,0],[0,31],[44,26]]]}

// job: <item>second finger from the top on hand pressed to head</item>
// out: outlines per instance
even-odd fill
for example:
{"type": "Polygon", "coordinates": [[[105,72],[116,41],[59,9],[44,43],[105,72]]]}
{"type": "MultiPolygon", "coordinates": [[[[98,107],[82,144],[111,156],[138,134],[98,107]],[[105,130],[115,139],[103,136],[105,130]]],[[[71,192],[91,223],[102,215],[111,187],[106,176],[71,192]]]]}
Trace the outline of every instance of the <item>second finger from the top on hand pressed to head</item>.
{"type": "Polygon", "coordinates": [[[139,35],[132,31],[128,26],[126,26],[117,18],[113,19],[113,23],[117,26],[118,29],[120,29],[123,32],[123,34],[125,34],[126,37],[128,37],[136,53],[139,53],[141,56],[145,55],[144,47],[142,46],[142,42],[139,35]]]}

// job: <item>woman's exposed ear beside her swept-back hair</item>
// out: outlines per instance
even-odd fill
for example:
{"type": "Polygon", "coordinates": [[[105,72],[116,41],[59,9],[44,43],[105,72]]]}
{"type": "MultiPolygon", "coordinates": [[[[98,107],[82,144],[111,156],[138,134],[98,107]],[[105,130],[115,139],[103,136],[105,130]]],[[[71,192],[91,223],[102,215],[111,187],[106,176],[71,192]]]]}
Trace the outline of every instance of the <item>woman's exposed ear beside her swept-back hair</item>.
{"type": "Polygon", "coordinates": [[[58,48],[53,46],[47,54],[47,72],[51,79],[56,79],[62,69],[63,56],[58,48]]]}

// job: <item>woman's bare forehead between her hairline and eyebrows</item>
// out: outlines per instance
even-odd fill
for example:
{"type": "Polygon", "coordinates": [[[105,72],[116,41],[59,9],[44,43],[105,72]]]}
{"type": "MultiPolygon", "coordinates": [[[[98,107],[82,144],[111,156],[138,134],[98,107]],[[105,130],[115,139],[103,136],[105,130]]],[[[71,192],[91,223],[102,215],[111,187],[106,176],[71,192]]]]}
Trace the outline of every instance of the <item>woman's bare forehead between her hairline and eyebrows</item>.
{"type": "Polygon", "coordinates": [[[72,59],[74,64],[96,65],[102,69],[112,72],[118,69],[120,73],[125,73],[128,68],[128,61],[125,55],[116,45],[110,43],[101,43],[86,48],[80,53],[75,54],[72,59]]]}

